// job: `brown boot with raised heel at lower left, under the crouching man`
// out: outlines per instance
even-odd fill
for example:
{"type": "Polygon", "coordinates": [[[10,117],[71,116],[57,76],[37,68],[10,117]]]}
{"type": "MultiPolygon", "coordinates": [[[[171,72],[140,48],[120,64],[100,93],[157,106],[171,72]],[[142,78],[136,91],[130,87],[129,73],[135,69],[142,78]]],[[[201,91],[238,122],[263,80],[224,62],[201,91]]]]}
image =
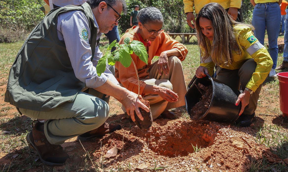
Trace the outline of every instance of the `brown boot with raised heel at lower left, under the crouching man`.
{"type": "MultiPolygon", "coordinates": [[[[33,123],[34,122],[35,121],[33,121],[33,123]]],[[[33,130],[26,136],[28,145],[36,150],[43,163],[52,166],[63,165],[69,158],[69,155],[64,152],[62,146],[53,145],[48,142],[44,131],[41,131],[43,125],[43,123],[38,121],[33,126],[33,130]]]]}

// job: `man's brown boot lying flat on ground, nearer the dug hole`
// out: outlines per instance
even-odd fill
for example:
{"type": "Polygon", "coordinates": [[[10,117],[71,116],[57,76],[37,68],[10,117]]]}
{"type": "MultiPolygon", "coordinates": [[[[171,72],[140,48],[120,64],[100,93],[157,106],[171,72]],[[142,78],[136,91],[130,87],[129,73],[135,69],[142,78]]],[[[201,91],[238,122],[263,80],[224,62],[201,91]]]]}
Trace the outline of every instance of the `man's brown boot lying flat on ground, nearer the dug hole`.
{"type": "Polygon", "coordinates": [[[104,123],[103,125],[101,125],[100,127],[94,130],[78,135],[77,139],[80,141],[87,141],[94,137],[103,137],[105,134],[110,134],[113,131],[120,130],[120,129],[121,129],[121,125],[119,124],[111,125],[108,123],[104,123]]]}

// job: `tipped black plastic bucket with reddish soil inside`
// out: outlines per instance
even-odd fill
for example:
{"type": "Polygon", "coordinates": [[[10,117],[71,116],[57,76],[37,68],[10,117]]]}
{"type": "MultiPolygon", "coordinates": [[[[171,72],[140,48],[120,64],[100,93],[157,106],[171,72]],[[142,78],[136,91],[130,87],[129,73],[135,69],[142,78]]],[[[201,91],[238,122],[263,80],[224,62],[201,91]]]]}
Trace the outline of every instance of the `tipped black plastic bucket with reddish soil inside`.
{"type": "Polygon", "coordinates": [[[240,91],[211,78],[209,74],[203,78],[194,77],[188,84],[188,91],[185,94],[186,110],[193,120],[233,124],[239,117],[241,108],[235,106],[239,94],[240,91]],[[209,86],[212,89],[209,90],[209,86]],[[212,94],[209,93],[211,91],[212,94]],[[197,103],[199,104],[194,107],[197,103]]]}

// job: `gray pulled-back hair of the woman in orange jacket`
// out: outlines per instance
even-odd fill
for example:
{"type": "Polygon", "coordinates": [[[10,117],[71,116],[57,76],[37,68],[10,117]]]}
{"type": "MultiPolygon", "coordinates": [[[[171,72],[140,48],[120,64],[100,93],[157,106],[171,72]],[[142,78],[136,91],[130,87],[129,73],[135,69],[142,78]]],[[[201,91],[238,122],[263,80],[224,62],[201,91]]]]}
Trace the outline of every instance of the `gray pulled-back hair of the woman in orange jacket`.
{"type": "Polygon", "coordinates": [[[137,14],[137,20],[142,24],[151,22],[163,22],[163,16],[159,9],[155,7],[146,7],[137,14]]]}

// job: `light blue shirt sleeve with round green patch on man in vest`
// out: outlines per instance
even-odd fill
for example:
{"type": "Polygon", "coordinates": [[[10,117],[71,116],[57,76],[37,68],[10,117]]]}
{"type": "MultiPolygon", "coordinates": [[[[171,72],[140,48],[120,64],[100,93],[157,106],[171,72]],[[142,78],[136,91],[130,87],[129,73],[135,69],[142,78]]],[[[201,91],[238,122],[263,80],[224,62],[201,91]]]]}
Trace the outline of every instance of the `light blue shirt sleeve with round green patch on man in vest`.
{"type": "Polygon", "coordinates": [[[91,33],[88,20],[82,12],[70,11],[60,14],[58,16],[57,34],[59,40],[65,42],[76,78],[85,83],[86,87],[97,88],[103,85],[108,79],[107,76],[112,78],[112,81],[116,80],[109,69],[107,71],[107,68],[105,73],[98,77],[96,65],[102,57],[102,53],[97,49],[94,58],[97,57],[98,60],[91,61],[92,51],[89,44],[91,33]]]}

